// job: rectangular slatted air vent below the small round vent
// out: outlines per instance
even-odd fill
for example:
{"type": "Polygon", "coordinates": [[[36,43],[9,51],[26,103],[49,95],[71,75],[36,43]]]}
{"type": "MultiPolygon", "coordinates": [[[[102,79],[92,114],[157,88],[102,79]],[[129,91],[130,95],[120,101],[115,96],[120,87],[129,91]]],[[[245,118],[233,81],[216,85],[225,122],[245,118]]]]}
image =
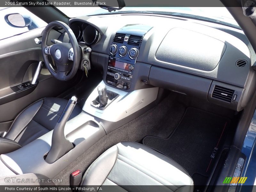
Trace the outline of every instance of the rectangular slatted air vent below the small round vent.
{"type": "Polygon", "coordinates": [[[234,90],[215,85],[214,90],[212,92],[212,97],[230,103],[233,97],[233,93],[234,90]]]}

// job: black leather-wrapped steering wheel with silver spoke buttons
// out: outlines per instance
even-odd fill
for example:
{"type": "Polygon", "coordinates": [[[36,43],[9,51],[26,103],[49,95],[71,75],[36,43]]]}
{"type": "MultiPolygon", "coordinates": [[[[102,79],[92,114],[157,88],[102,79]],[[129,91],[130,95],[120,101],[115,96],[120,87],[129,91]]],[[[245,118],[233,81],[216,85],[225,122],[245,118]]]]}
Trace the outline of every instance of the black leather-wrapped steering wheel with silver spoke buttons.
{"type": "Polygon", "coordinates": [[[53,21],[45,27],[42,37],[42,52],[47,69],[56,79],[68,81],[75,76],[80,62],[80,50],[76,36],[67,24],[61,21],[53,21]],[[66,31],[71,43],[56,43],[47,46],[49,33],[51,29],[56,26],[59,26],[66,31]],[[54,69],[50,63],[50,56],[54,58],[57,69],[54,69]]]}

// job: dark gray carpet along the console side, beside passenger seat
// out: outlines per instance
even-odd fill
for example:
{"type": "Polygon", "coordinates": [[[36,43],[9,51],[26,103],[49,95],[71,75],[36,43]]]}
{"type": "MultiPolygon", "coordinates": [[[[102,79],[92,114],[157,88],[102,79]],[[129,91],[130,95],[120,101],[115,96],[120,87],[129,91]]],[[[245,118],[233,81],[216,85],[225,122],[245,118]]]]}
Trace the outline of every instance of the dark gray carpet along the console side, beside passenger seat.
{"type": "Polygon", "coordinates": [[[177,94],[170,94],[156,107],[101,138],[54,178],[62,179],[62,183],[56,184],[69,185],[70,173],[78,169],[85,172],[98,156],[121,141],[140,142],[146,135],[167,138],[186,109],[176,100],[177,94]]]}

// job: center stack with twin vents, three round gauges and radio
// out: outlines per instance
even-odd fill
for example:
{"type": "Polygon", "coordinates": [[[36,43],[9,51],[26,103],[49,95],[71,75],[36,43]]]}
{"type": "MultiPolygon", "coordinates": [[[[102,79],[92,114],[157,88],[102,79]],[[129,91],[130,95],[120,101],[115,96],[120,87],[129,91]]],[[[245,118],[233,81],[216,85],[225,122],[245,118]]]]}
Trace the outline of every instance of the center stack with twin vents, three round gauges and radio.
{"type": "Polygon", "coordinates": [[[139,56],[144,35],[152,27],[147,25],[127,25],[118,30],[110,46],[106,82],[118,89],[129,90],[133,69],[139,56]]]}

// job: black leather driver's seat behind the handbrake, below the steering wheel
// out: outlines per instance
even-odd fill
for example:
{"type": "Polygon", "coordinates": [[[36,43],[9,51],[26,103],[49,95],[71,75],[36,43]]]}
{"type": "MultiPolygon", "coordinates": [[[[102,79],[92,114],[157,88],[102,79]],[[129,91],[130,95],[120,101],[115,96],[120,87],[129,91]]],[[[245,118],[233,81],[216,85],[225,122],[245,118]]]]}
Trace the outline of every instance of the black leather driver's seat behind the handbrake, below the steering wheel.
{"type": "MultiPolygon", "coordinates": [[[[0,137],[0,154],[17,150],[53,130],[67,102],[60,98],[44,98],[21,111],[5,136],[0,137]]],[[[76,106],[69,119],[77,116],[81,110],[76,106]]]]}

